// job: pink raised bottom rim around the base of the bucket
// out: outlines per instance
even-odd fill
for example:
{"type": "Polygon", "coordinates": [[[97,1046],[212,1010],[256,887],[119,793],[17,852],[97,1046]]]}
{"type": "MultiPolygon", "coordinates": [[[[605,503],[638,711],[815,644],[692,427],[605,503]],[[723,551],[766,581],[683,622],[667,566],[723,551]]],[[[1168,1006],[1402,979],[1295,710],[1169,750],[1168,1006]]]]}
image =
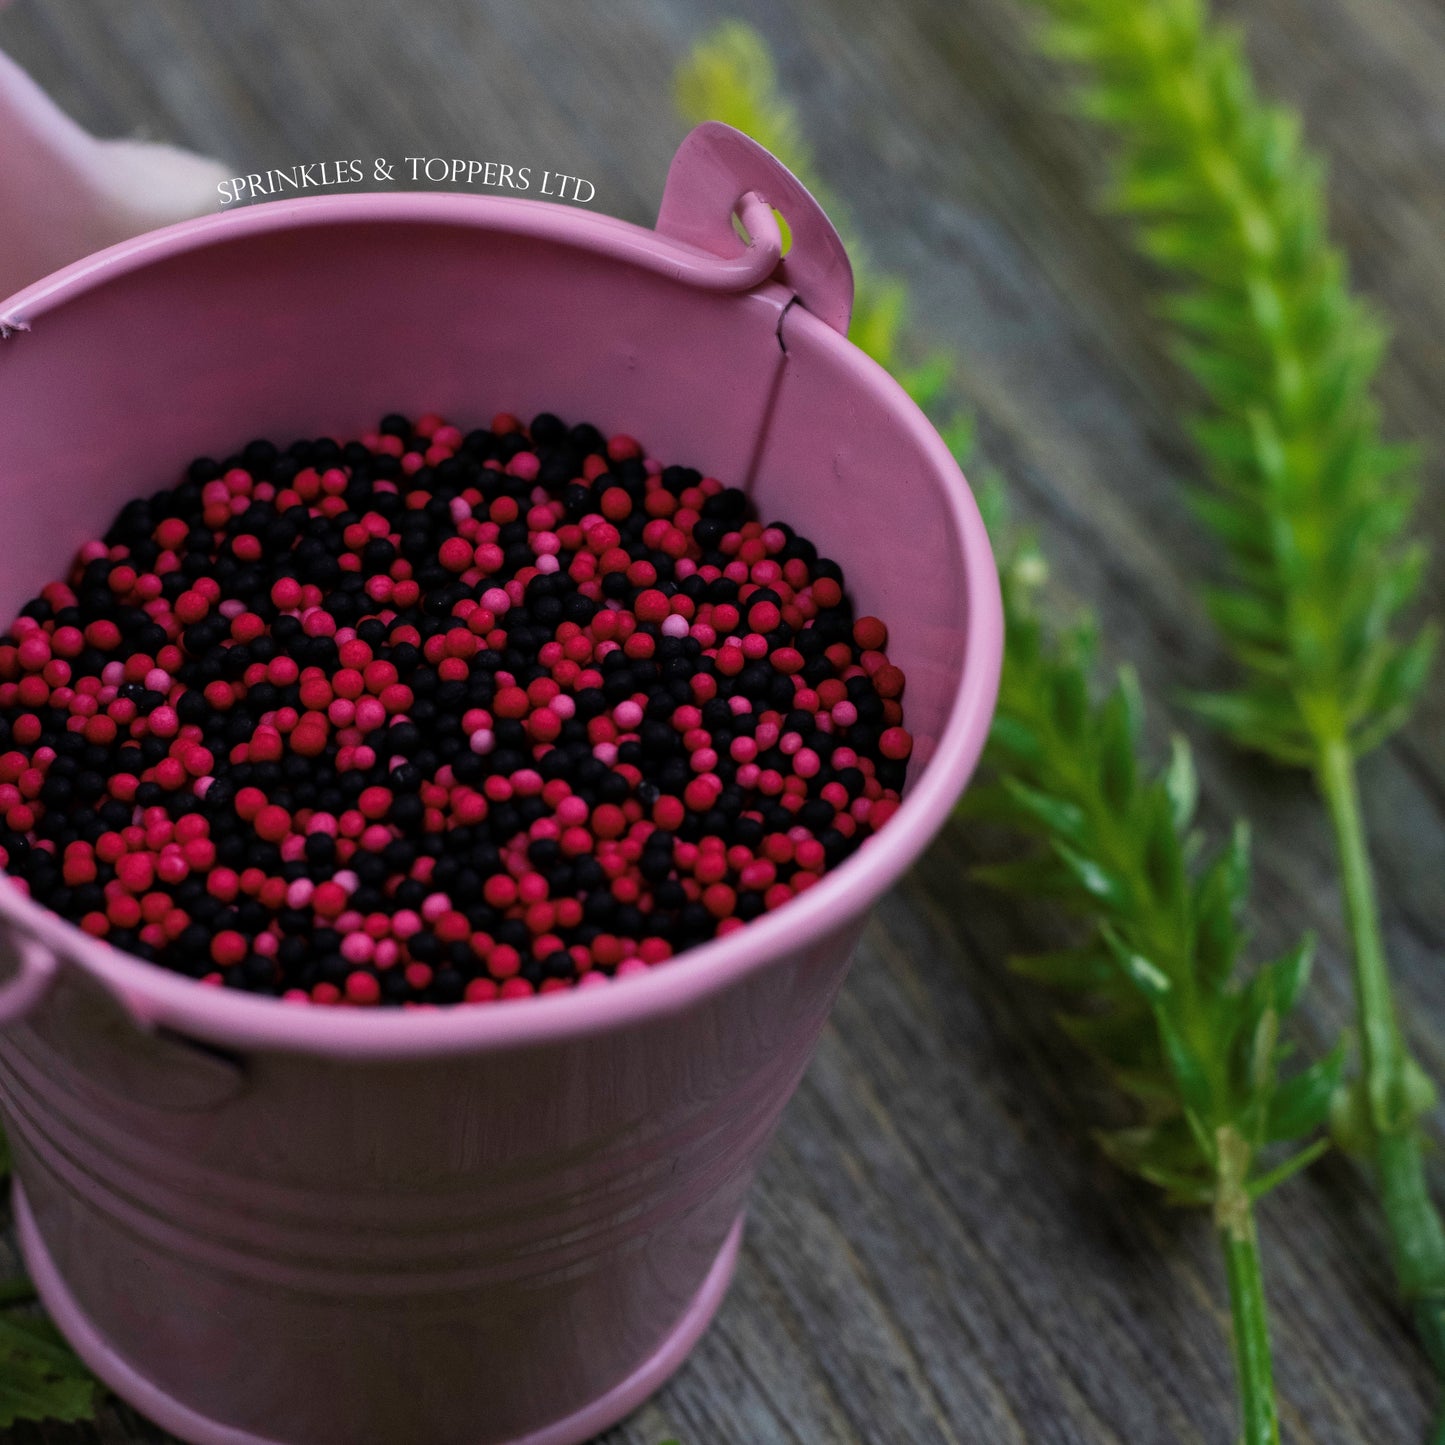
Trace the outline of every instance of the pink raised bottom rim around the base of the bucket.
{"type": "MultiPolygon", "coordinates": [[[[207,1419],[137,1374],[95,1329],[65,1286],[40,1238],[19,1181],[12,1186],[12,1199],[20,1251],[40,1302],[75,1353],[116,1394],[191,1445],[306,1445],[303,1441],[251,1435],[249,1431],[207,1419]]],[[[530,1435],[517,1436],[507,1445],[581,1445],[642,1405],[682,1364],[711,1324],[731,1283],[741,1240],[743,1217],[738,1215],[692,1303],[662,1344],[626,1380],[566,1419],[555,1420],[530,1435]]]]}

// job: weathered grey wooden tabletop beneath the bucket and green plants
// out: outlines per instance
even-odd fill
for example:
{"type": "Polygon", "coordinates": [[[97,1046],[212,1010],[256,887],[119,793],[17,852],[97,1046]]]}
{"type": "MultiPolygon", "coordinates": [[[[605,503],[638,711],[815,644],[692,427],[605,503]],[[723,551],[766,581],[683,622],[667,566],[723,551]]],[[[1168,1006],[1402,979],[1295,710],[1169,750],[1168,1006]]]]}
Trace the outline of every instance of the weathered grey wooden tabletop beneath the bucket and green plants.
{"type": "MultiPolygon", "coordinates": [[[[1384,407],[1431,448],[1419,526],[1445,553],[1445,12],[1435,0],[1251,0],[1263,84],[1329,158],[1338,237],[1397,344],[1384,407]]],[[[670,74],[712,23],[770,39],[822,172],[874,257],[962,357],[988,460],[1042,530],[1055,598],[1139,668],[1156,737],[1224,675],[1179,503],[1188,389],[1149,276],[1088,199],[1097,137],[1064,118],[1014,0],[20,0],[0,48],[85,126],[266,171],[481,156],[566,171],[650,223],[685,127],[670,74]]],[[[1441,610],[1445,565],[1431,605],[1441,610]]],[[[1413,1045],[1445,1077],[1445,686],[1364,769],[1384,928],[1413,1045]]],[[[1300,777],[1198,737],[1205,819],[1256,822],[1261,946],[1322,942],[1309,1045],[1350,1016],[1329,838],[1300,777]]],[[[685,1368],[605,1445],[1172,1445],[1234,1438],[1207,1221],[1097,1155],[1103,1097],[1003,958],[1039,936],[965,881],[952,827],[868,926],[753,1195],[733,1290],[685,1368]]],[[[1445,1169],[1436,1168],[1445,1198],[1445,1169]]],[[[1360,1170],[1329,1157],[1263,1208],[1285,1433],[1412,1442],[1429,1376],[1392,1298],[1360,1170]]],[[[110,1405],[13,1441],[162,1441],[110,1405]]],[[[428,1442],[418,1442],[428,1445],[428,1442]]]]}

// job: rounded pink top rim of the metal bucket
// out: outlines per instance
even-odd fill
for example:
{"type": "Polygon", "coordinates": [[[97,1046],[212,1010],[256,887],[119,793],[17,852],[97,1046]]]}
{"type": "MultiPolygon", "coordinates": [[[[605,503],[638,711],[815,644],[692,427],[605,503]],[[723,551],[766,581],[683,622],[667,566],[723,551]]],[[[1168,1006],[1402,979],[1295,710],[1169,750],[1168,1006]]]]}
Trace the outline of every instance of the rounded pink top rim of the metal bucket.
{"type": "MultiPolygon", "coordinates": [[[[269,201],[198,217],[84,257],[0,303],[0,337],[120,276],[238,237],[305,225],[422,223],[491,230],[558,241],[666,277],[720,285],[725,260],[647,227],[558,202],[449,192],[364,192],[269,201]]],[[[731,263],[736,267],[736,262],[731,263]]],[[[776,282],[760,292],[779,308],[792,299],[776,282]]],[[[793,308],[795,312],[801,308],[793,308]]],[[[795,322],[790,321],[789,325],[795,322]]],[[[290,1006],[214,988],[127,955],[12,887],[0,887],[0,919],[62,964],[75,964],[113,994],[143,1026],[163,1026],[207,1043],[254,1052],[348,1059],[412,1059],[523,1048],[626,1030],[685,1012],[829,935],[842,932],[916,861],[939,832],[968,782],[987,738],[1003,662],[998,574],[978,504],[944,439],[903,387],[858,347],[806,312],[796,324],[816,329],[818,344],[899,418],[939,487],[962,558],[965,611],[958,685],[933,754],[883,829],[816,884],[734,932],[685,949],[673,961],[607,987],[572,988],[491,1006],[350,1010],[290,1006]]],[[[3,347],[4,342],[0,342],[3,347]]],[[[0,350],[3,357],[3,350],[0,350]]]]}

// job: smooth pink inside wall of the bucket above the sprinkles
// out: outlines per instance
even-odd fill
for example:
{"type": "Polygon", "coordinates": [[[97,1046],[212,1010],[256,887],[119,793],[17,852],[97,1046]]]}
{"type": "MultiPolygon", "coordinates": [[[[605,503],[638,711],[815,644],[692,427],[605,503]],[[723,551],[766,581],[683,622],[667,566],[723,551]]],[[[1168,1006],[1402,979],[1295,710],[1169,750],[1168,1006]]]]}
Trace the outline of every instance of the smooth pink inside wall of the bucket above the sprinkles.
{"type": "Polygon", "coordinates": [[[962,562],[918,442],[857,386],[861,357],[799,308],[785,355],[776,286],[709,293],[480,230],[474,204],[458,198],[458,224],[315,224],[199,246],[0,341],[0,618],[195,455],[354,436],[393,410],[439,410],[464,429],[553,410],[731,484],[756,465],[763,520],[816,540],[860,611],[892,623],[916,776],[964,663],[962,562]]]}

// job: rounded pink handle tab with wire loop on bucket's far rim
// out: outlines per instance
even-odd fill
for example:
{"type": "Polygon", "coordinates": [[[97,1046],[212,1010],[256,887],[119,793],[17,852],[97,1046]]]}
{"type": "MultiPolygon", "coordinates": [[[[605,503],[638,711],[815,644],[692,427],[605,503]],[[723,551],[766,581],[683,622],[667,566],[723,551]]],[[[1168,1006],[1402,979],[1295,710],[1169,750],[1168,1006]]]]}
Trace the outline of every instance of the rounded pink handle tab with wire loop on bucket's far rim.
{"type": "MultiPolygon", "coordinates": [[[[668,168],[656,230],[736,260],[760,243],[770,247],[776,221],[766,212],[775,210],[788,223],[792,246],[759,280],[782,282],[819,321],[847,335],[853,266],[832,221],[798,176],[741,130],[707,120],[683,137],[668,168]],[[734,214],[753,237],[751,247],[744,249],[733,228],[734,214]]],[[[766,254],[759,253],[759,269],[766,254]]]]}

